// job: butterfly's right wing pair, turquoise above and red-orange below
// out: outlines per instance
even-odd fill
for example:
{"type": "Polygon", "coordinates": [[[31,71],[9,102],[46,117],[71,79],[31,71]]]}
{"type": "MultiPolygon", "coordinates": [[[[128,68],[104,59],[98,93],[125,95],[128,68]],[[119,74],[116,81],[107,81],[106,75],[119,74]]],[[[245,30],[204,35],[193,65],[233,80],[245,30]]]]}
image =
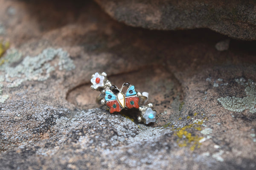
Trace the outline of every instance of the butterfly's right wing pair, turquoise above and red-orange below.
{"type": "Polygon", "coordinates": [[[139,108],[139,97],[136,96],[137,95],[137,91],[135,90],[134,85],[131,85],[131,87],[129,87],[126,91],[125,94],[125,106],[127,108],[139,108]]]}

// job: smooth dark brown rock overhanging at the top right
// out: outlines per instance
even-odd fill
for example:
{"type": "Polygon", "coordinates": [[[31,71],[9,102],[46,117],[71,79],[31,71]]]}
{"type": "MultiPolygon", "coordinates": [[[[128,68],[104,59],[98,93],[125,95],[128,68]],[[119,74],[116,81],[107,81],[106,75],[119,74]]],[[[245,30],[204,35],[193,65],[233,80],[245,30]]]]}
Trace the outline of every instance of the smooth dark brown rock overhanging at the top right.
{"type": "Polygon", "coordinates": [[[157,30],[209,28],[229,37],[256,40],[256,3],[188,0],[95,0],[129,26],[157,30]]]}

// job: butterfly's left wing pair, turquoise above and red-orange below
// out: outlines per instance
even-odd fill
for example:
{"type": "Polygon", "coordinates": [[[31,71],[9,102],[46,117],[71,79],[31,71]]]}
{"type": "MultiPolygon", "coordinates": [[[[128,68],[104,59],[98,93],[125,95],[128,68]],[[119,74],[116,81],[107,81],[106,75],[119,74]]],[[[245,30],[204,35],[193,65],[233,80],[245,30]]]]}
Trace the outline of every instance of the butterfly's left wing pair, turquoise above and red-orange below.
{"type": "Polygon", "coordinates": [[[121,111],[121,107],[119,102],[116,100],[116,96],[111,91],[106,91],[105,93],[106,105],[109,107],[109,112],[119,112],[121,111]]]}

